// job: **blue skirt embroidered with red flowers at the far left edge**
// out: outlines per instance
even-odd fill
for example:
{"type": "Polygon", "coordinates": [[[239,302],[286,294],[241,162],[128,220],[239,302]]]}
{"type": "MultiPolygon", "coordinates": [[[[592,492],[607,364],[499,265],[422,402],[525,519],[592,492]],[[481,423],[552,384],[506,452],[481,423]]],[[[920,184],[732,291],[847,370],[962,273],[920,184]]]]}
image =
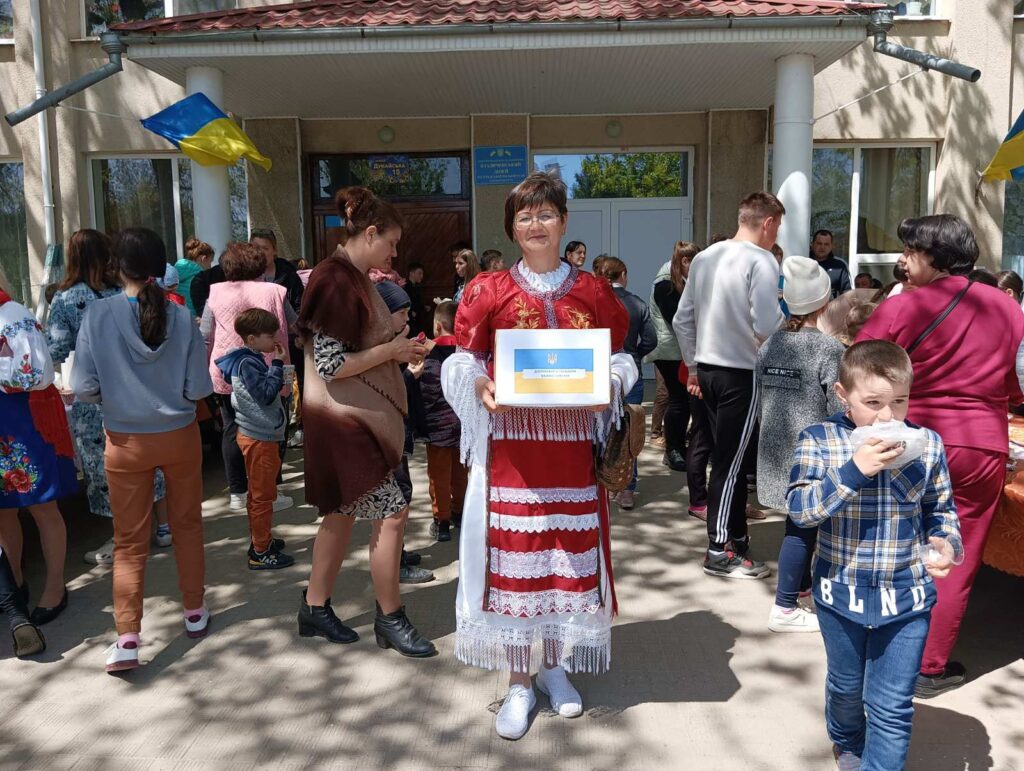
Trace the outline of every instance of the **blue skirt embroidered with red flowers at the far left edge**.
{"type": "Polygon", "coordinates": [[[0,509],[56,501],[78,490],[75,459],[36,429],[28,393],[0,393],[0,509]]]}

